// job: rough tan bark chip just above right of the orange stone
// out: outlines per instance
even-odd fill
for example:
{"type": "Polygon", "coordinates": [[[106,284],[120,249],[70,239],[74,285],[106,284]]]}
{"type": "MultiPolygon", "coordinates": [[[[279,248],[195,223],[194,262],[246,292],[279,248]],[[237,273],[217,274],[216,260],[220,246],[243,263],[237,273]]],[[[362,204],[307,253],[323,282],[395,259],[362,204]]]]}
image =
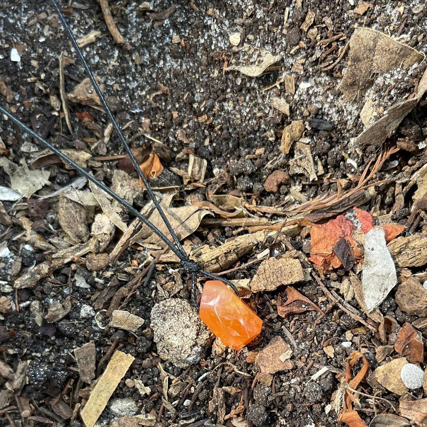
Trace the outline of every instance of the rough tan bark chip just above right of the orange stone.
{"type": "Polygon", "coordinates": [[[260,264],[249,286],[252,292],[271,292],[281,285],[290,285],[303,280],[304,272],[299,260],[269,258],[260,264]]]}

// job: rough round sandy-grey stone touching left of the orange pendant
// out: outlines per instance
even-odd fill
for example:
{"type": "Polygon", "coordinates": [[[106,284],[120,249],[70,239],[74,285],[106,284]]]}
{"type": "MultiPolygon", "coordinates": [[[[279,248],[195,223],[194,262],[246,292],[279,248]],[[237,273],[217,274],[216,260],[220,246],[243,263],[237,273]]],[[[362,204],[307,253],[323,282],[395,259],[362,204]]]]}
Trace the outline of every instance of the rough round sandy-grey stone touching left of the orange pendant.
{"type": "Polygon", "coordinates": [[[170,298],[155,304],[151,325],[159,356],[178,368],[187,368],[205,356],[213,334],[188,301],[170,298]]]}

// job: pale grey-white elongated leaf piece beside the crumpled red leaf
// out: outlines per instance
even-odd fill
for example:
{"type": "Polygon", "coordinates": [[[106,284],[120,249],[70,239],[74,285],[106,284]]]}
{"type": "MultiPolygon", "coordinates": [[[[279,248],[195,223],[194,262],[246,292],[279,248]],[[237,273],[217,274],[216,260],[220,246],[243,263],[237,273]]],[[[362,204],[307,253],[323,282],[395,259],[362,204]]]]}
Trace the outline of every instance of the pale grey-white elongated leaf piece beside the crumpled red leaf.
{"type": "Polygon", "coordinates": [[[365,235],[365,263],[363,266],[363,300],[370,313],[378,307],[397,284],[395,263],[386,246],[384,230],[374,227],[365,235]]]}

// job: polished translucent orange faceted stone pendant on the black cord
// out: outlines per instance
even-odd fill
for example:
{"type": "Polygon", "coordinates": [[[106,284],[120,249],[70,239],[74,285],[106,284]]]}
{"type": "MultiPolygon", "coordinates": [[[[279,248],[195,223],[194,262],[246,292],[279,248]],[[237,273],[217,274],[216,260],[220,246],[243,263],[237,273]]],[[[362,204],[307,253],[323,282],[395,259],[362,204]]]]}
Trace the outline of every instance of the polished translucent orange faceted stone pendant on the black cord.
{"type": "Polygon", "coordinates": [[[200,301],[200,319],[234,350],[240,350],[261,332],[263,321],[219,280],[205,283],[200,301]]]}

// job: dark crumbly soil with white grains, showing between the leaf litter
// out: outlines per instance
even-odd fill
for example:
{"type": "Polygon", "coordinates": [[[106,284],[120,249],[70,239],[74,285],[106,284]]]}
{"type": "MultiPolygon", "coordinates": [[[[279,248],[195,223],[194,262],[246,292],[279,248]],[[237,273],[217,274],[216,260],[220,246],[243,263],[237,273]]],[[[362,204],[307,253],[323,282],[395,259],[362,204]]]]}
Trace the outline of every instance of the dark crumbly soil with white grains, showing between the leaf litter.
{"type": "MultiPolygon", "coordinates": [[[[75,148],[76,144],[85,138],[94,137],[93,133],[77,119],[76,112],[90,113],[102,129],[105,129],[107,125],[105,114],[94,108],[71,103],[74,132],[70,135],[65,121],[62,120],[61,135],[58,114],[49,102],[50,96],[59,97],[58,57],[61,52],[75,60],[74,64],[66,67],[67,93],[72,92],[76,83],[85,78],[85,73],[71,48],[70,41],[64,35],[62,26],[53,15],[50,3],[44,1],[1,3],[3,4],[0,6],[0,76],[16,94],[13,102],[9,103],[10,109],[20,120],[35,126],[40,135],[61,149],[75,148]],[[26,44],[26,49],[22,53],[21,62],[10,61],[11,48],[22,44],[26,44]]],[[[65,2],[62,3],[62,6],[66,6],[65,2]]],[[[187,163],[177,161],[175,156],[182,149],[192,147],[197,156],[208,160],[205,180],[213,178],[215,169],[228,173],[229,179],[220,193],[240,193],[247,202],[251,203],[254,200],[264,206],[291,205],[293,200],[287,197],[290,189],[301,192],[307,199],[317,196],[321,191],[336,190],[334,184],[336,179],[344,178],[347,173],[360,175],[369,160],[376,158],[376,148],[359,149],[351,140],[363,130],[358,115],[363,102],[343,101],[338,89],[348,53],[331,70],[318,69],[318,65],[323,61],[329,59],[335,61],[338,48],[343,47],[350,39],[356,25],[377,29],[394,37],[399,35],[401,36],[399,41],[419,51],[425,51],[427,47],[425,37],[418,42],[418,36],[426,28],[427,10],[417,14],[411,12],[411,7],[418,4],[418,1],[412,2],[411,7],[404,5],[403,14],[397,10],[401,2],[380,1],[361,16],[352,12],[354,6],[347,0],[322,2],[309,0],[303,1],[301,7],[295,2],[283,0],[261,2],[265,3],[265,6],[252,0],[238,0],[234,3],[203,0],[194,3],[199,9],[198,12],[187,2],[178,3],[176,10],[163,21],[150,21],[146,12],[140,8],[140,2],[111,1],[114,20],[131,45],[131,50],[115,44],[106,29],[97,2],[90,0],[82,3],[72,2],[74,6],[71,9],[72,13],[65,16],[76,38],[92,30],[99,30],[103,35],[98,41],[85,47],[84,54],[95,76],[98,76],[105,85],[105,95],[117,122],[121,127],[127,125],[125,137],[130,140],[137,134],[138,128],[143,127],[144,120],[150,119],[148,133],[173,150],[170,161],[162,160],[164,173],[153,182],[153,186],[181,185],[181,178],[169,168],[186,169],[187,163]],[[286,8],[289,8],[289,18],[284,26],[286,8]],[[330,19],[333,23],[332,35],[343,33],[346,36],[346,39],[337,41],[336,49],[329,55],[331,58],[321,56],[321,47],[315,40],[307,38],[305,32],[299,28],[309,10],[316,13],[313,25],[320,25],[318,35],[321,39],[330,37],[328,27],[321,26],[325,24],[325,19],[330,19]],[[229,36],[234,32],[242,34],[242,46],[247,43],[255,48],[253,54],[251,50],[233,51],[229,36]],[[183,43],[172,43],[174,35],[178,35],[183,43]],[[291,53],[300,41],[304,47],[291,53]],[[261,48],[273,55],[282,54],[280,70],[258,78],[247,77],[235,71],[222,72],[225,56],[228,63],[231,59],[247,61],[256,57],[257,49],[261,48]],[[301,65],[301,73],[295,71],[296,64],[301,65]],[[283,85],[263,91],[279,80],[283,73],[292,74],[295,78],[296,92],[293,97],[285,93],[283,85]],[[311,82],[310,87],[300,88],[300,84],[306,82],[311,82]],[[169,88],[169,94],[159,91],[158,84],[169,88]],[[270,107],[271,98],[278,95],[290,102],[290,117],[270,107]],[[204,114],[208,117],[206,122],[199,120],[204,114]],[[325,175],[329,174],[329,179],[309,183],[304,175],[293,175],[290,184],[281,184],[276,193],[266,193],[263,187],[266,177],[274,169],[287,169],[290,159],[294,156],[292,150],[289,155],[282,156],[280,152],[281,130],[294,119],[321,119],[333,126],[333,130],[329,132],[315,129],[313,126],[305,134],[310,138],[315,163],[319,159],[325,175]],[[184,129],[189,143],[186,144],[178,138],[180,129],[184,129]],[[255,151],[260,148],[265,149],[263,154],[255,155],[255,151]],[[356,161],[357,170],[346,162],[342,153],[356,161]]],[[[155,12],[161,12],[169,6],[170,3],[167,1],[156,0],[152,8],[155,12]]],[[[397,85],[393,91],[388,91],[384,96],[384,104],[392,104],[404,95],[410,94],[424,68],[425,65],[421,64],[412,75],[397,73],[390,76],[391,82],[397,79],[397,85]]],[[[378,93],[382,93],[389,82],[377,81],[376,85],[378,93]]],[[[5,105],[5,97],[0,97],[0,102],[5,105]]],[[[425,111],[417,109],[402,123],[396,135],[406,136],[405,132],[418,132],[421,140],[426,128],[419,123],[422,123],[424,114],[425,111]]],[[[12,153],[9,160],[19,164],[20,159],[25,158],[30,163],[42,147],[9,123],[3,120],[0,130],[1,138],[12,153]],[[32,152],[33,148],[35,152],[32,152]]],[[[133,146],[149,147],[150,144],[151,140],[138,137],[133,146]]],[[[398,173],[399,168],[407,162],[414,164],[418,160],[416,156],[422,154],[421,151],[415,153],[415,158],[409,152],[401,152],[398,156],[392,157],[390,161],[395,159],[400,161],[395,173],[398,173]]],[[[107,145],[107,155],[123,152],[123,147],[120,147],[118,138],[113,134],[107,145]]],[[[91,167],[91,170],[98,179],[103,179],[109,184],[115,168],[117,161],[104,161],[99,167],[91,167]]],[[[75,176],[74,171],[53,166],[50,186],[42,191],[50,193],[69,183],[75,176]]],[[[382,178],[381,173],[378,178],[382,178]]],[[[8,182],[9,177],[0,169],[0,184],[8,182]]],[[[188,195],[205,199],[204,193],[205,188],[186,190],[180,193],[180,199],[182,202],[188,195]]],[[[379,199],[374,199],[371,205],[367,204],[361,208],[369,210],[378,203],[382,212],[388,213],[393,197],[394,183],[381,189],[379,199]],[[385,203],[386,196],[389,196],[388,204],[385,203]]],[[[11,216],[18,212],[23,216],[29,216],[31,213],[26,203],[18,206],[12,202],[3,204],[11,216]]],[[[139,204],[143,205],[143,201],[139,201],[139,204]]],[[[53,233],[52,228],[59,230],[60,226],[55,203],[49,202],[45,208],[46,210],[41,207],[41,211],[36,212],[34,217],[50,225],[45,226],[43,232],[38,231],[48,238],[53,233]]],[[[408,208],[409,202],[405,205],[405,209],[395,216],[395,222],[407,222],[408,208]]],[[[266,217],[276,218],[272,214],[266,214],[266,217]]],[[[421,228],[423,225],[424,223],[420,222],[418,226],[421,228]]],[[[156,271],[152,280],[141,286],[126,305],[127,310],[146,319],[143,327],[135,334],[109,326],[102,329],[93,317],[81,318],[82,305],[91,306],[93,302],[91,296],[103,290],[110,284],[112,278],[117,281],[117,288],[126,285],[133,278],[125,270],[129,267],[129,261],[141,261],[146,253],[132,247],[122,254],[116,265],[94,274],[88,272],[84,265],[70,263],[53,273],[51,279],[55,279],[54,281],[41,280],[37,285],[18,290],[15,294],[15,290],[8,287],[8,285],[13,287],[13,280],[10,277],[13,261],[17,257],[22,258],[22,274],[49,256],[41,250],[33,251],[25,246],[25,242],[20,239],[22,231],[23,228],[18,221],[14,221],[10,227],[0,224],[1,240],[7,242],[11,252],[8,257],[0,259],[1,294],[11,297],[15,304],[15,310],[8,310],[1,315],[0,341],[3,346],[0,348],[1,358],[15,370],[20,360],[31,360],[27,371],[28,382],[23,386],[21,395],[29,397],[29,404],[34,409],[33,415],[44,416],[58,426],[82,425],[79,418],[74,421],[62,420],[59,415],[53,413],[49,401],[56,398],[66,384],[73,380],[73,386],[68,389],[63,400],[72,410],[77,403],[82,403],[77,388],[79,373],[76,370],[73,349],[91,340],[97,346],[97,363],[113,342],[117,349],[135,357],[112,399],[131,398],[137,406],[136,413],[141,411],[148,413],[155,409],[158,414],[156,425],[159,427],[202,426],[201,420],[211,418],[211,414],[208,413],[208,402],[212,398],[213,388],[218,386],[236,386],[243,390],[246,406],[244,418],[254,426],[334,426],[337,415],[333,409],[325,413],[325,407],[330,404],[332,393],[339,387],[340,373],[343,372],[346,357],[354,350],[364,349],[364,355],[371,369],[378,365],[371,333],[361,328],[362,325],[341,310],[328,311],[317,325],[314,325],[318,318],[316,312],[295,315],[285,320],[277,316],[276,310],[273,313],[269,310],[271,304],[274,306],[278,292],[271,292],[268,295],[257,294],[252,298],[252,305],[264,319],[263,334],[261,340],[256,345],[249,346],[248,350],[264,347],[277,335],[283,336],[284,340],[288,341],[282,329],[282,326],[286,326],[292,332],[297,344],[296,348],[292,348],[294,368],[275,374],[271,386],[258,383],[252,389],[257,368],[254,364],[246,363],[247,352],[228,350],[223,355],[208,354],[201,363],[187,369],[186,374],[196,385],[191,385],[185,393],[177,396],[175,400],[180,399],[180,404],[175,406],[176,412],[172,413],[162,405],[162,380],[157,367],[161,360],[156,354],[152,331],[149,329],[151,309],[156,302],[164,299],[158,292],[157,285],[161,286],[175,280],[168,272],[168,268],[156,271]],[[90,287],[77,287],[73,281],[76,274],[85,278],[90,287]],[[46,309],[53,299],[62,300],[67,295],[69,283],[72,296],[70,313],[49,328],[39,327],[30,311],[31,304],[38,301],[46,309]],[[16,309],[16,304],[19,310],[16,309]],[[351,345],[343,346],[341,344],[348,341],[345,333],[349,330],[353,334],[351,345]],[[331,343],[335,351],[333,358],[328,357],[322,350],[322,342],[331,337],[337,337],[331,343]],[[224,365],[209,373],[202,381],[198,381],[203,374],[225,361],[232,363],[237,370],[249,373],[251,377],[238,374],[230,365],[224,365]],[[308,383],[310,377],[324,366],[330,366],[330,371],[315,382],[308,383]],[[126,386],[125,382],[129,378],[141,379],[145,386],[150,387],[151,395],[148,398],[141,397],[135,388],[126,386]],[[201,382],[203,386],[197,387],[201,382]],[[198,393],[196,397],[195,392],[198,393]],[[189,411],[184,402],[192,398],[194,402],[189,411]]],[[[199,228],[190,238],[193,243],[198,244],[215,241],[223,243],[228,237],[242,232],[245,231],[238,227],[199,228]]],[[[117,234],[114,242],[117,242],[119,237],[117,234]]],[[[254,252],[262,252],[269,248],[270,244],[269,241],[260,243],[254,248],[254,252]]],[[[306,254],[310,252],[308,240],[300,236],[290,239],[290,244],[306,254]]],[[[240,259],[240,263],[246,263],[251,259],[253,254],[248,254],[240,259]]],[[[253,264],[226,277],[251,278],[257,266],[258,264],[253,264]]],[[[333,289],[334,285],[330,282],[340,282],[344,275],[347,275],[344,269],[327,274],[326,286],[333,289]]],[[[322,310],[328,306],[325,295],[313,281],[298,289],[322,310]]],[[[189,299],[189,290],[190,282],[184,282],[184,289],[176,296],[189,299]]],[[[350,304],[357,307],[355,300],[350,301],[350,304]]],[[[409,317],[398,309],[392,296],[386,298],[380,310],[384,315],[390,314],[395,317],[399,323],[407,321],[409,317]]],[[[99,373],[102,373],[105,366],[106,363],[99,367],[99,373]]],[[[162,366],[175,376],[181,375],[184,371],[170,363],[162,363],[162,366]]],[[[0,378],[2,388],[4,383],[6,378],[0,378]]],[[[366,393],[374,393],[366,383],[364,387],[366,393]]],[[[237,407],[241,394],[241,392],[236,395],[225,394],[227,414],[232,408],[237,407]]],[[[417,398],[425,397],[419,390],[414,392],[414,395],[417,398]]],[[[397,395],[385,392],[383,397],[398,406],[397,395]]],[[[367,398],[360,397],[362,408],[357,409],[369,425],[374,416],[374,409],[366,400],[367,398]]],[[[16,406],[15,401],[12,400],[10,405],[16,406]]],[[[377,402],[376,410],[381,412],[385,408],[386,406],[383,407],[377,402]]],[[[8,415],[9,419],[0,412],[0,423],[4,423],[2,425],[46,425],[36,419],[23,422],[17,408],[12,409],[8,415]]],[[[109,425],[115,416],[117,413],[113,413],[108,406],[97,425],[109,425]]],[[[212,415],[212,418],[215,416],[212,415]]],[[[231,420],[224,421],[226,425],[231,425],[230,423],[231,420]]]]}

